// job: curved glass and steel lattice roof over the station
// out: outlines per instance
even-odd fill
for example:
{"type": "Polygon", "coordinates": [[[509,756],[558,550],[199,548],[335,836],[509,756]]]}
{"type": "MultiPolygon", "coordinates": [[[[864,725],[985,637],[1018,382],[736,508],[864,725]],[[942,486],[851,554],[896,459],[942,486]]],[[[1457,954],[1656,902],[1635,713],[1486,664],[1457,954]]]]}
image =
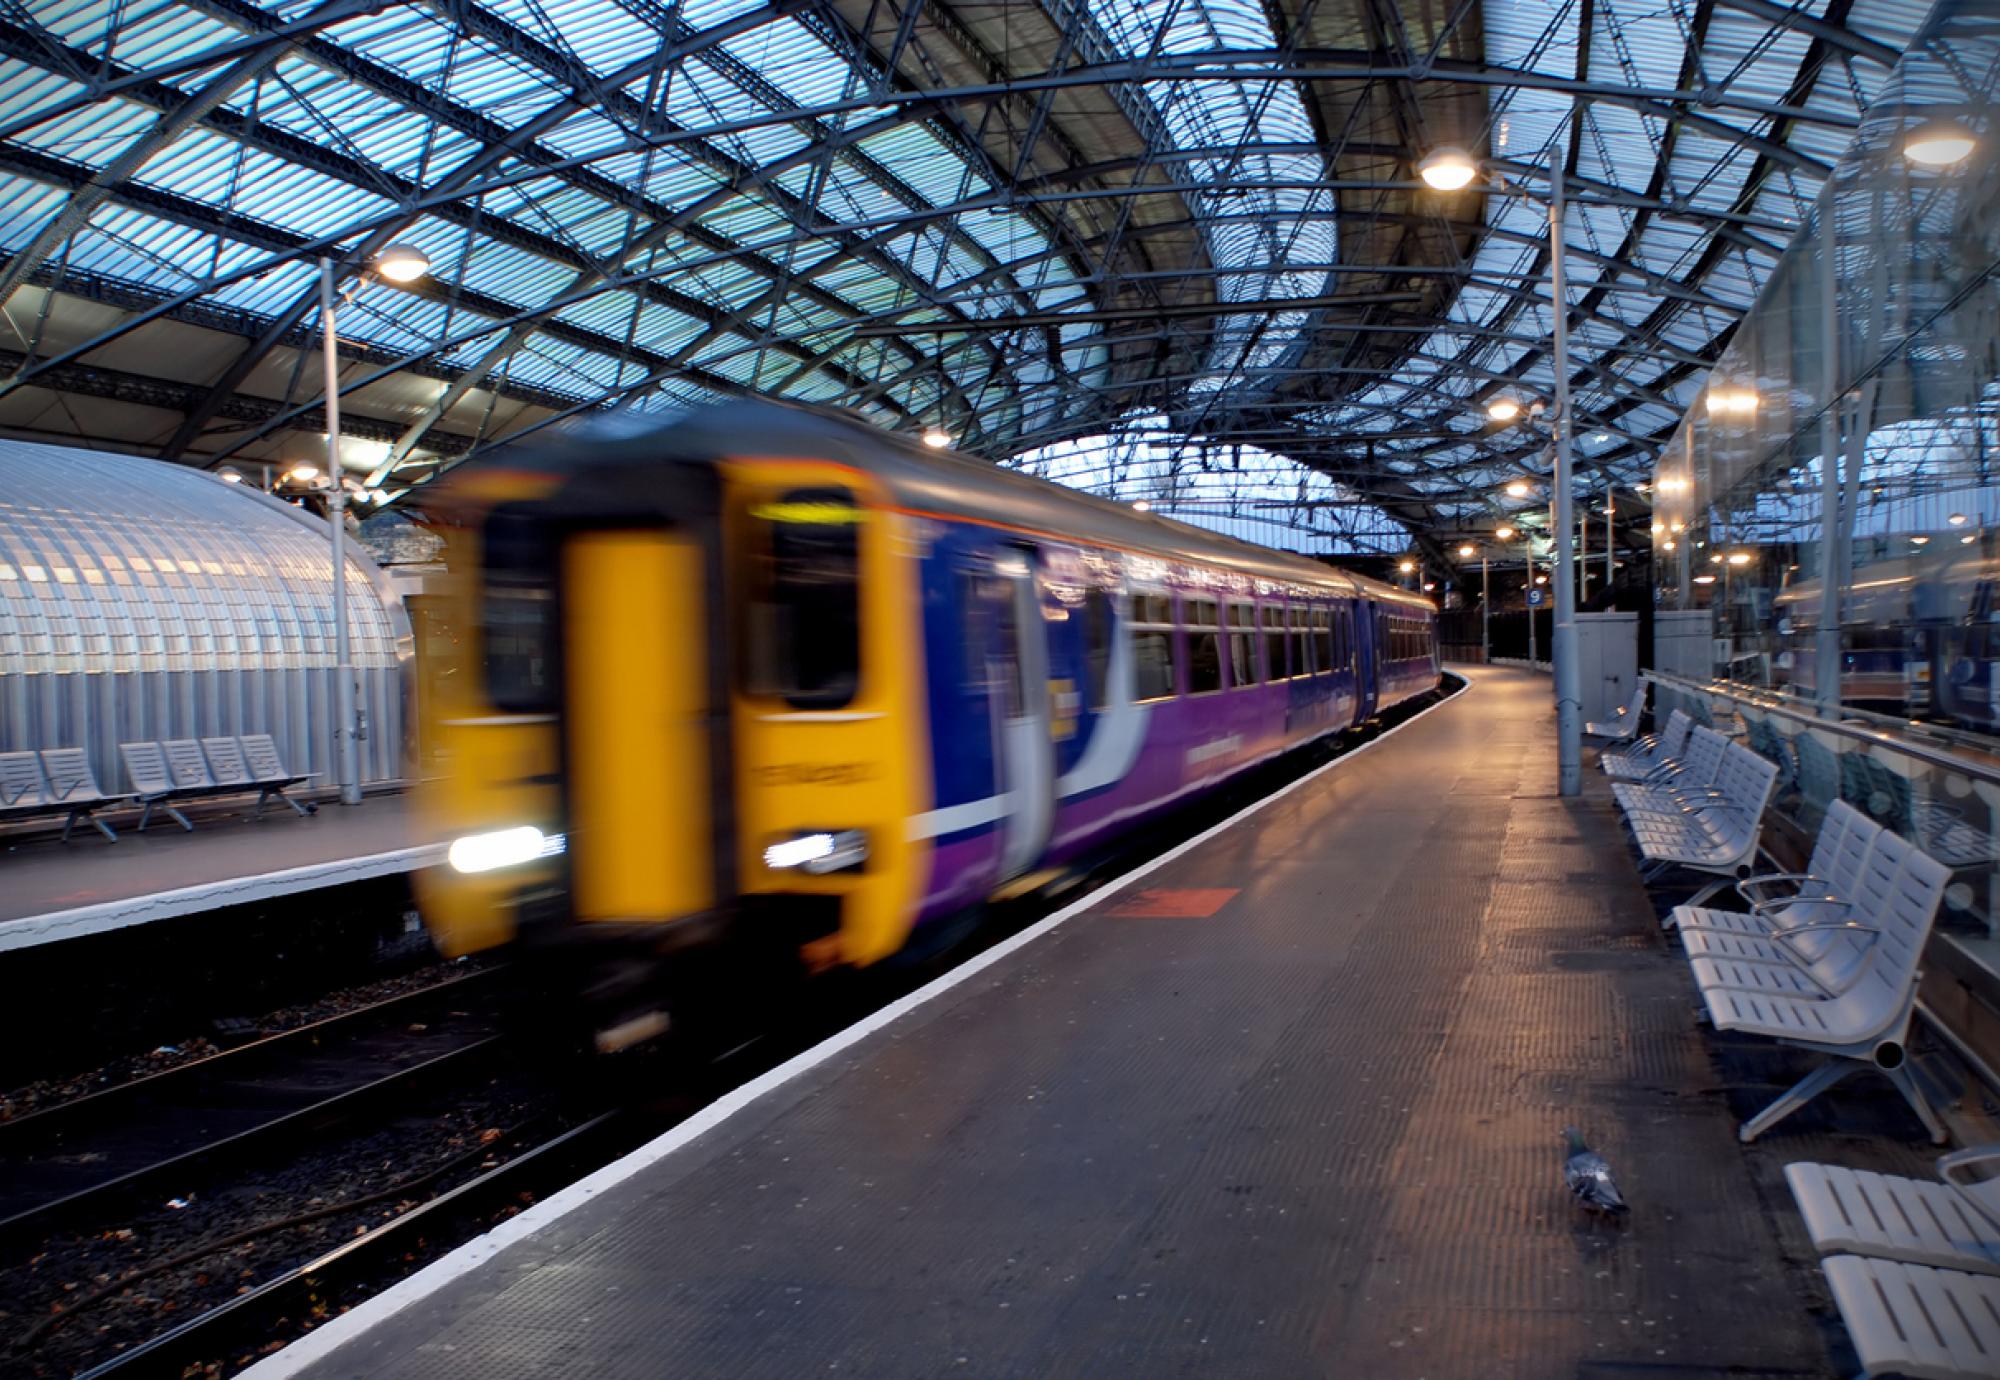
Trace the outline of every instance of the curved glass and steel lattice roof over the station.
{"type": "Polygon", "coordinates": [[[1542,502],[1484,406],[1554,388],[1552,160],[1580,480],[1632,484],[1926,8],[8,0],[0,430],[318,458],[324,254],[386,492],[766,390],[1080,484],[1164,428],[1204,492],[1436,540],[1542,502]],[[1424,188],[1442,144],[1486,176],[1424,188]]]}

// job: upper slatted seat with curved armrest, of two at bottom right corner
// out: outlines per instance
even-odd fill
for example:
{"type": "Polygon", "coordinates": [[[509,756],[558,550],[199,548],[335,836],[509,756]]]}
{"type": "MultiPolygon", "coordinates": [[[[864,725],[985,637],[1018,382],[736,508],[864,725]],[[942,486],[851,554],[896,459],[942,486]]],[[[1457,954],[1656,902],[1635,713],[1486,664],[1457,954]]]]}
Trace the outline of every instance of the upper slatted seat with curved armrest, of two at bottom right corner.
{"type": "Polygon", "coordinates": [[[2000,1144],[1938,1160],[1938,1178],[1902,1178],[1838,1164],[1786,1164],[1806,1234],[1822,1256],[1854,1254],[1938,1270],[2000,1274],[2000,1144]]]}

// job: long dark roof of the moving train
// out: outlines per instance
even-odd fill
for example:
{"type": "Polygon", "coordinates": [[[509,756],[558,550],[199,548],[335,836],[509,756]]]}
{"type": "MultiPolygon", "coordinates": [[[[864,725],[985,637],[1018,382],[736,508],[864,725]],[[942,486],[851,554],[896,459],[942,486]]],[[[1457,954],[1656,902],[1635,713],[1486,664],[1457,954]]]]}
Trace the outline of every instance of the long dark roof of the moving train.
{"type": "Polygon", "coordinates": [[[1158,560],[1206,562],[1274,582],[1348,582],[1382,604],[1434,610],[1436,604],[1382,580],[1326,566],[1308,556],[1238,542],[1130,504],[1084,494],[1032,474],[1002,470],[952,450],[922,446],[868,422],[822,408],[744,400],[698,408],[674,418],[624,414],[560,436],[536,438],[494,452],[494,464],[572,468],[606,460],[714,458],[796,454],[838,460],[882,480],[896,502],[918,512],[998,522],[1136,550],[1158,560]]]}

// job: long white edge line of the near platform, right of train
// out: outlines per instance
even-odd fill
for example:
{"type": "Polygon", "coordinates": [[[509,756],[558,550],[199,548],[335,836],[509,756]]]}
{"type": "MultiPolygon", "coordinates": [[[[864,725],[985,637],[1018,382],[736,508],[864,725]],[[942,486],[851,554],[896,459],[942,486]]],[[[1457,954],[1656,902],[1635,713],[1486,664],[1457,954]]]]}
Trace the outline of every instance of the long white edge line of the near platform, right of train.
{"type": "Polygon", "coordinates": [[[1026,948],[1028,944],[1036,942],[1038,938],[1042,938],[1044,934],[1048,934],[1056,926],[1072,920],[1074,916],[1084,914],[1086,910],[1090,910],[1098,902],[1106,900],[1108,896],[1114,896],[1114,894],[1122,892],[1132,882],[1138,882],[1140,878],[1150,876],[1152,872],[1164,868],[1168,862],[1174,862],[1182,854],[1192,852],[1194,848],[1200,848],[1202,844],[1206,844],[1216,834],[1222,834],[1222,832],[1226,832],[1226,830],[1242,824],[1250,816],[1258,814],[1260,810],[1278,804],[1280,800],[1284,800],[1286,796],[1290,796],[1294,790],[1298,790],[1298,788],[1302,788],[1302,786],[1318,780],[1326,772],[1332,772],[1336,766],[1352,762],[1354,758],[1362,756],[1370,748],[1376,748],[1376,746],[1388,742],[1390,738],[1394,738],[1396,734],[1400,734],[1404,728],[1410,728],[1412,724],[1418,724],[1418,722],[1430,718],[1436,710],[1442,710],[1442,708],[1446,708],[1450,704],[1460,702],[1464,696],[1472,694],[1474,686],[1478,686],[1478,680],[1474,680],[1472,676],[1456,676],[1456,678],[1464,682],[1464,686],[1456,694],[1452,694],[1452,696],[1448,696],[1444,700],[1438,700],[1428,710],[1420,710],[1418,714],[1412,714],[1410,718],[1406,718],[1404,722],[1396,724],[1388,732],[1370,738],[1368,742],[1352,748],[1350,752],[1342,752],[1332,762],[1322,762],[1320,766],[1312,768],[1310,772],[1306,772],[1298,780],[1288,782],[1286,786],[1280,786],[1278,790],[1270,792],[1268,796],[1262,796],[1260,800],[1252,800],[1250,804],[1246,804],[1242,810],[1238,810],[1230,818],[1220,820],[1216,824],[1210,824],[1200,834],[1182,840],[1180,844],[1168,848],[1158,858],[1148,858],[1146,862],[1138,864],[1130,872],[1124,872],[1124,874],[1112,878],[1110,882],[1106,882],[1104,886],[1098,886],[1088,896],[1082,896],[1080,900],[1072,900],[1068,906],[1064,906],[1062,910],[1054,912],[1052,916],[1044,916],[1042,920],[1036,920],[1026,930],[1022,930],[1018,934],[1012,934],[1006,940],[1002,940],[1002,942],[994,944],[992,948],[984,950],[982,954],[976,954],[976,956],[968,958],[966,962],[958,964],[950,972],[940,974],[938,978],[932,978],[930,982],[926,982],[918,990],[908,992],[908,994],[896,998],[888,1006],[884,1006],[884,1008],[880,1008],[880,1010],[864,1016],[862,1020],[854,1022],[846,1030],[840,1030],[838,1034],[832,1034],[826,1040],[820,1040],[810,1050],[800,1050],[798,1054],[794,1054],[792,1058],[788,1058],[784,1064],[778,1064],[776,1068],[766,1070],[764,1074],[752,1078],[750,1082],[742,1084],[740,1088],[736,1088],[736,1090],[732,1090],[732,1092],[716,1098],[714,1102],[710,1102],[708,1106],[704,1106],[700,1112],[696,1112],[688,1120],[680,1122],[672,1130],[662,1132],[660,1136],[654,1136],[652,1140],[648,1140],[646,1144],[642,1144],[638,1150],[632,1150],[630,1154],[626,1154],[626,1156],[622,1156],[618,1160],[612,1160],[604,1168],[600,1168],[600,1170],[596,1170],[596,1172],[592,1172],[592,1174],[576,1180],[568,1188],[564,1188],[564,1190],[560,1190],[560,1192],[556,1192],[556,1194],[552,1194],[552,1196],[536,1202],[526,1212],[520,1212],[520,1214],[516,1214],[512,1218],[508,1218],[506,1222],[502,1222],[500,1226],[492,1228],[484,1236],[474,1236],[464,1246],[458,1246],[456,1250],[440,1256],[438,1260],[432,1260],[428,1266],[424,1266],[422,1270],[418,1270],[410,1278],[406,1278],[406,1280],[402,1280],[398,1284],[392,1284],[390,1288],[382,1290],[374,1298],[370,1298],[370,1300],[366,1300],[362,1304],[356,1304],[354,1308],[350,1308],[348,1312],[340,1314],[338,1318],[332,1318],[324,1326],[314,1328],[306,1336],[302,1336],[296,1342],[292,1342],[290,1346],[286,1346],[282,1352],[272,1352],[270,1356],[266,1356],[264,1360],[256,1362],[248,1370],[240,1370],[238,1378],[240,1380],[284,1380],[286,1376],[296,1376],[306,1366],[312,1366],[314,1362],[320,1362],[320,1360],[332,1356],[336,1350],[340,1350],[348,1342],[364,1336],[376,1324],[388,1322],[390,1318],[394,1318],[396,1314],[400,1314],[410,1304],[416,1304],[416,1302],[420,1302],[424,1298],[430,1298],[432,1294],[436,1294],[440,1288],[444,1288],[452,1280],[456,1280],[456,1278],[460,1278],[464,1274],[470,1274],[480,1264],[484,1264],[486,1260],[492,1260],[494,1256],[498,1256],[502,1250],[506,1250],[514,1242],[518,1242],[518,1240],[522,1240],[526,1236],[532,1236],[534,1232],[542,1230],[544,1226],[548,1226],[548,1224],[552,1224],[552,1222],[568,1216],[576,1208],[584,1206],[586,1202],[590,1202],[592,1198],[596,1198],[604,1190],[616,1188],[618,1184],[622,1184],[624,1180],[632,1178],[640,1170],[644,1170],[644,1168],[648,1168],[652,1164],[658,1164],[660,1160],[664,1160],[674,1150],[680,1150],[682,1146],[692,1144],[700,1136],[708,1134],[710,1130],[714,1130],[716,1126],[720,1126],[728,1118],[736,1116],[744,1108],[756,1104],[766,1094],[776,1092],[778,1088],[782,1088],[784,1084],[792,1082],[800,1074],[806,1074],[806,1072],[818,1068],[820,1064],[824,1064],[826,1060],[834,1058],[842,1050],[846,1050],[846,1048],[850,1048],[854,1044],[860,1044],[864,1038],[868,1038],[874,1032],[878,1032],[878,1030],[894,1024],[894,1022],[902,1020],[910,1012],[914,1012],[920,1006],[932,1002],[934,998],[938,998],[944,992],[956,988],[958,984],[962,984],[962,982],[966,982],[970,978],[976,978],[980,972],[984,972],[986,968],[992,968],[996,962],[1000,962],[1008,954],[1014,954],[1016,950],[1026,948]]]}

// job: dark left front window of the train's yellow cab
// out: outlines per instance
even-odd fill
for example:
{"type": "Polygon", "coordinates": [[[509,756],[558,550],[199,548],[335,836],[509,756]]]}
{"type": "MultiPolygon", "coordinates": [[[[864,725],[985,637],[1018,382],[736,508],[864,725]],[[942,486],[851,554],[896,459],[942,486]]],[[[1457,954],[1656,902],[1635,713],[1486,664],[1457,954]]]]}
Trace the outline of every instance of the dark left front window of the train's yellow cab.
{"type": "Polygon", "coordinates": [[[480,644],[486,698],[508,714],[556,708],[556,566],[548,528],[528,512],[486,518],[480,644]]]}

